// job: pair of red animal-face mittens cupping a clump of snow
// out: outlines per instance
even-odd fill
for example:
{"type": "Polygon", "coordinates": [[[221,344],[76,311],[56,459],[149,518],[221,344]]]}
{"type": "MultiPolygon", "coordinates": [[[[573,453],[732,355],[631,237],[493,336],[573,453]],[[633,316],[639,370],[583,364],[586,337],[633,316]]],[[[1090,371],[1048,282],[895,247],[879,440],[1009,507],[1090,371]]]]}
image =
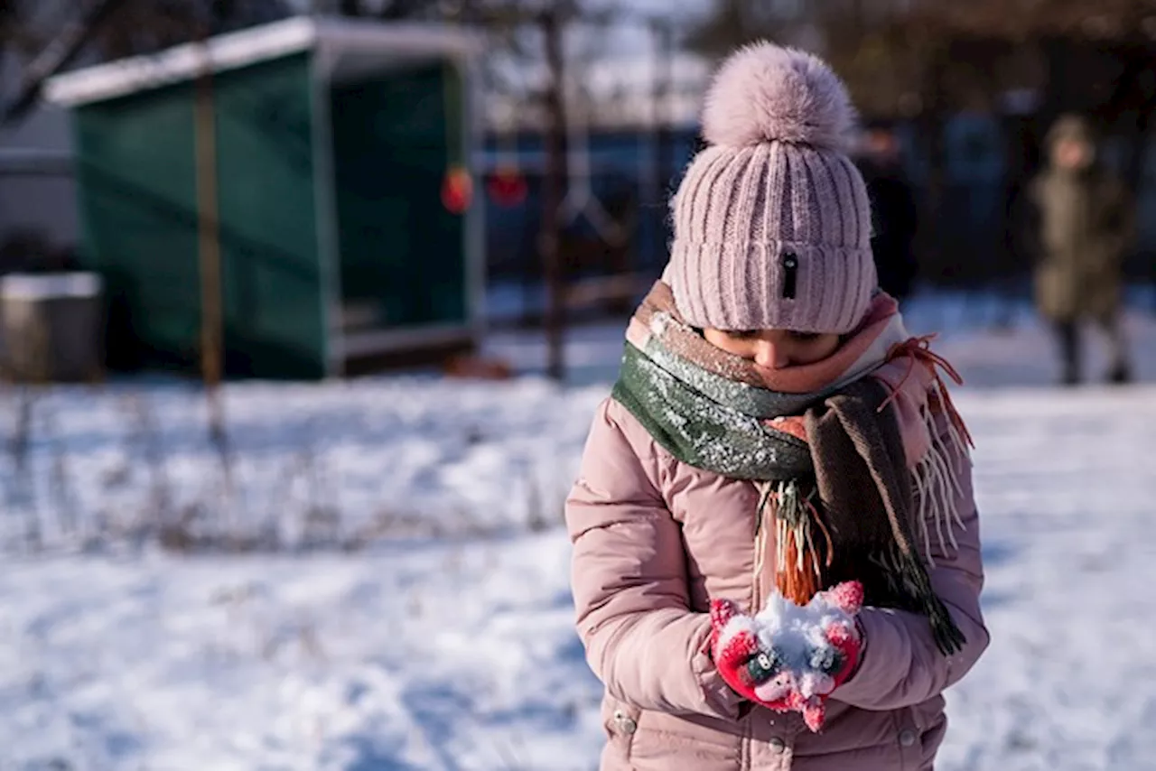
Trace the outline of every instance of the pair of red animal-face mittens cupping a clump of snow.
{"type": "Polygon", "coordinates": [[[803,607],[776,592],[754,616],[729,600],[714,600],[714,665],[735,692],[777,712],[801,712],[817,732],[831,691],[859,662],[855,614],[862,601],[858,581],[820,592],[803,607]]]}

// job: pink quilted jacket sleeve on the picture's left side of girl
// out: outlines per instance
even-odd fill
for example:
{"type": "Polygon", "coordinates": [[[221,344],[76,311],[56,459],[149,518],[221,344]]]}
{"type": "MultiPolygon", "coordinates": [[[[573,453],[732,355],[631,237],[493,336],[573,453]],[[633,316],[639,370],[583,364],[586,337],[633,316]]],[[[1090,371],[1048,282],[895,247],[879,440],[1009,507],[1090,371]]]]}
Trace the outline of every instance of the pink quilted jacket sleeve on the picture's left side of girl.
{"type": "Polygon", "coordinates": [[[659,492],[653,444],[621,405],[599,408],[566,501],[578,635],[594,674],[625,703],[735,717],[709,654],[710,617],[689,609],[679,524],[659,492]],[[637,428],[630,431],[624,425],[637,428]]]}

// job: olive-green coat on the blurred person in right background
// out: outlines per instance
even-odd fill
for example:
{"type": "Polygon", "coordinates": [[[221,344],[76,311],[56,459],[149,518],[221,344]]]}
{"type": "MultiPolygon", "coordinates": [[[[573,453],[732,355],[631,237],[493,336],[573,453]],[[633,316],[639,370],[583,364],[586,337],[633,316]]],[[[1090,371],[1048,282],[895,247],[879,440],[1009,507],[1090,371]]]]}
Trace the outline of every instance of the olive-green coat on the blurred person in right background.
{"type": "MultiPolygon", "coordinates": [[[[1061,131],[1079,128],[1069,124],[1061,131]]],[[[1052,140],[1057,136],[1053,132],[1052,140]]],[[[1050,168],[1031,181],[1028,195],[1039,312],[1053,321],[1113,316],[1134,225],[1125,185],[1098,164],[1080,172],[1050,168]]]]}

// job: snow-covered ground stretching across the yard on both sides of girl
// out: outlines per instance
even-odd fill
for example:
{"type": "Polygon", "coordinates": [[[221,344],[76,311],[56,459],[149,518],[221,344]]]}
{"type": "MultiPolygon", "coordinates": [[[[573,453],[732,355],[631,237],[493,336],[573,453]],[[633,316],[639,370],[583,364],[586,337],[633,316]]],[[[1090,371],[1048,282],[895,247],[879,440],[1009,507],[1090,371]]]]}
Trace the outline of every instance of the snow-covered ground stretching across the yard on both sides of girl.
{"type": "MultiPolygon", "coordinates": [[[[1150,384],[1156,323],[1129,328],[1150,384]]],[[[320,499],[346,532],[403,519],[386,511],[444,522],[440,538],[347,555],[76,554],[83,539],[52,540],[67,501],[82,526],[150,511],[148,436],[170,509],[207,505],[220,477],[179,386],[54,395],[29,454],[45,489],[17,501],[40,506],[46,554],[21,553],[29,512],[12,503],[16,469],[3,477],[0,771],[593,769],[600,689],[570,627],[569,547],[525,524],[557,516],[618,341],[576,335],[576,380],[592,385],[565,391],[533,378],[231,388],[230,516],[304,519],[320,499]],[[134,395],[151,435],[134,428],[134,395]],[[71,497],[50,495],[53,479],[71,497]]],[[[518,336],[495,349],[531,370],[540,355],[518,336]]],[[[940,349],[976,383],[957,393],[979,443],[994,639],[949,695],[939,768],[1156,769],[1156,386],[1039,387],[1050,340],[1018,320],[940,349]]]]}

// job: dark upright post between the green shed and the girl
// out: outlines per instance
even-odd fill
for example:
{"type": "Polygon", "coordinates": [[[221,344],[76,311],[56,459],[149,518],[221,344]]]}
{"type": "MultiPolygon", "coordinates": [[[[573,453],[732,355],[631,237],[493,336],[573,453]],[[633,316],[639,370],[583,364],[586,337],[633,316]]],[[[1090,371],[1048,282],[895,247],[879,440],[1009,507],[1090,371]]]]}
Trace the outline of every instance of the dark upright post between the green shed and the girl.
{"type": "Polygon", "coordinates": [[[561,264],[561,209],[565,193],[565,62],[562,51],[562,23],[556,6],[541,16],[546,42],[546,64],[550,72],[546,90],[546,173],[542,178],[542,232],[540,246],[546,276],[547,376],[561,381],[565,376],[565,309],[561,264]]]}

